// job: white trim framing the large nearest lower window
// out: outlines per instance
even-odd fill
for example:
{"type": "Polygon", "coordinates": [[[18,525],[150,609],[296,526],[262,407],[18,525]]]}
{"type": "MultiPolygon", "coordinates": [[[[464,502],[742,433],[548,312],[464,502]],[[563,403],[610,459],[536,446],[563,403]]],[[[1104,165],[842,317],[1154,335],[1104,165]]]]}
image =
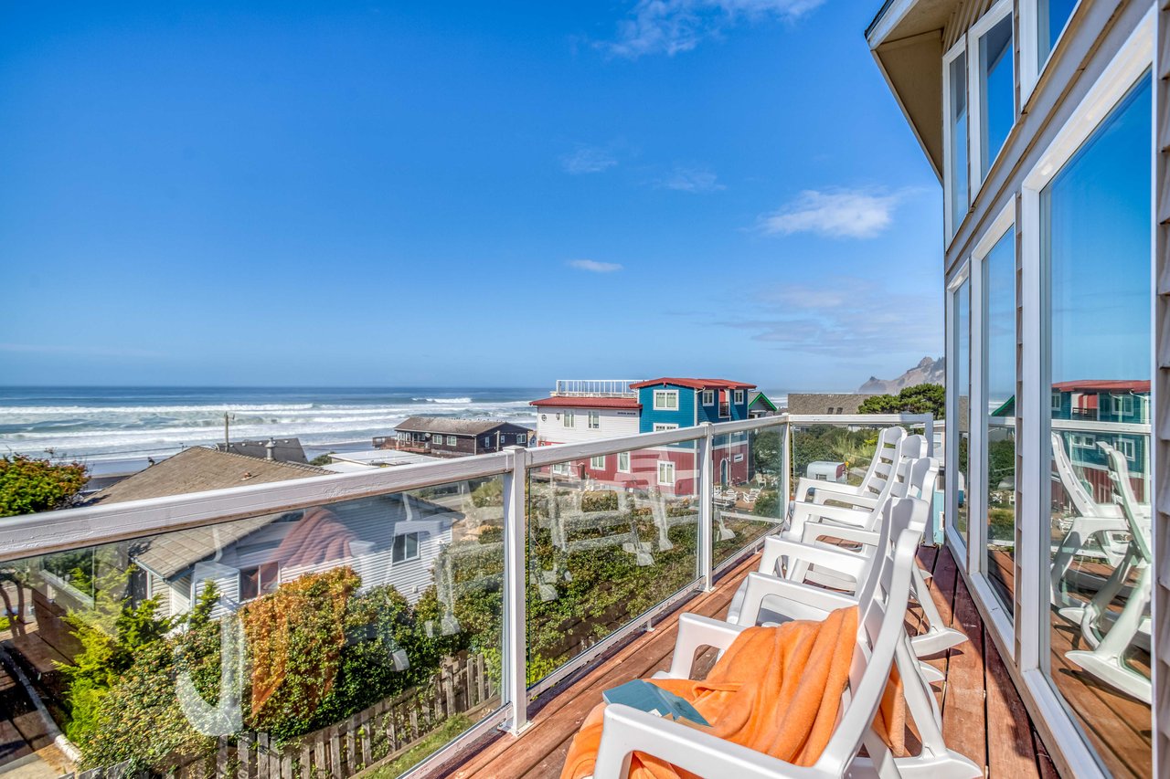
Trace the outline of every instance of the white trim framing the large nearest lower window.
{"type": "MultiPolygon", "coordinates": [[[[1117,54],[1106,66],[1101,76],[1089,88],[1089,91],[1065,122],[1057,137],[1045,150],[1039,161],[1024,179],[1020,192],[1021,223],[1021,266],[1020,301],[1024,304],[1021,323],[1021,343],[1024,345],[1020,364],[1023,366],[1023,385],[1025,387],[1042,387],[1051,381],[1042,370],[1041,357],[1046,345],[1041,343],[1045,331],[1045,311],[1040,304],[1042,297],[1042,273],[1040,267],[1040,192],[1060,172],[1064,165],[1081,149],[1083,143],[1097,129],[1101,120],[1129,92],[1137,78],[1150,69],[1154,62],[1154,32],[1156,6],[1151,7],[1138,22],[1129,39],[1117,49],[1117,54]]],[[[1156,84],[1155,84],[1156,89],[1156,84]]],[[[1157,111],[1157,101],[1154,102],[1157,111]]],[[[1151,150],[1154,132],[1150,132],[1151,150]]],[[[1151,152],[1152,153],[1152,152],[1151,152]]],[[[1155,166],[1155,171],[1156,171],[1155,166]]],[[[1151,180],[1151,188],[1155,182],[1151,180]]],[[[1157,251],[1157,242],[1151,242],[1151,254],[1157,251]]],[[[1156,257],[1150,257],[1151,263],[1156,257]]],[[[948,366],[949,370],[949,366],[948,366]]],[[[1051,412],[1041,407],[1047,392],[1025,392],[1021,399],[1023,429],[1019,430],[1020,457],[1025,463],[1045,462],[1048,454],[1046,436],[1051,426],[1051,412]]],[[[1048,544],[1037,544],[1034,539],[1046,538],[1051,532],[1048,505],[1045,491],[1048,488],[1048,475],[1041,467],[1033,464],[1018,474],[1020,505],[1017,517],[1021,528],[1024,545],[1017,551],[1020,570],[1025,575],[1017,580],[1019,608],[1016,612],[1017,625],[1017,667],[1024,680],[1024,692],[1032,698],[1039,709],[1045,724],[1051,730],[1055,745],[1060,749],[1068,765],[1085,770],[1085,775],[1103,775],[1097,768],[1093,752],[1086,745],[1080,730],[1073,724],[1057,695],[1051,681],[1042,671],[1044,655],[1047,653],[1047,641],[1041,640],[1037,625],[1047,625],[1048,615],[1048,570],[1051,566],[1048,544]],[[1023,628],[1020,626],[1024,626],[1023,628]]]]}

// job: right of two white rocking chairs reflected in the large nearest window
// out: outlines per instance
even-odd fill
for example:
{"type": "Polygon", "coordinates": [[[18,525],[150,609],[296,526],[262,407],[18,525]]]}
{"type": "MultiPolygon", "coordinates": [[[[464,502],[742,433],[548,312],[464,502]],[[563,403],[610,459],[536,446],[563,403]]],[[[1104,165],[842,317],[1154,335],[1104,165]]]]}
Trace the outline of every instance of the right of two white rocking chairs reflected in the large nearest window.
{"type": "Polygon", "coordinates": [[[1078,621],[1081,635],[1093,647],[1092,650],[1067,652],[1065,656],[1107,684],[1150,703],[1150,680],[1126,663],[1126,652],[1134,643],[1149,648],[1150,578],[1154,573],[1154,553],[1150,544],[1149,518],[1138,513],[1138,503],[1129,481],[1129,466],[1116,449],[1107,443],[1097,443],[1109,460],[1109,478],[1113,481],[1115,499],[1121,505],[1130,533],[1129,549],[1114,568],[1113,575],[1088,604],[1081,607],[1062,608],[1061,616],[1078,621]],[[1121,592],[1129,574],[1137,571],[1137,584],[1126,599],[1126,606],[1113,619],[1108,632],[1106,622],[1112,616],[1109,604],[1121,592]],[[1079,619],[1076,619],[1079,618],[1079,619]]]}

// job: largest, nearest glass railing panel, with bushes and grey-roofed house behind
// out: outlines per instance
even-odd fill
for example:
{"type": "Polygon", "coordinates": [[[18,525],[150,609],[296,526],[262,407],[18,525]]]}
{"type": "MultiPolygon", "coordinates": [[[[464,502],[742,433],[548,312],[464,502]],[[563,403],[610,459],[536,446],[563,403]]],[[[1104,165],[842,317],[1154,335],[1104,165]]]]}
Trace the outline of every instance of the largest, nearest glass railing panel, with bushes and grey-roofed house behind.
{"type": "Polygon", "coordinates": [[[84,768],[394,777],[501,709],[502,477],[5,563],[84,768]]]}

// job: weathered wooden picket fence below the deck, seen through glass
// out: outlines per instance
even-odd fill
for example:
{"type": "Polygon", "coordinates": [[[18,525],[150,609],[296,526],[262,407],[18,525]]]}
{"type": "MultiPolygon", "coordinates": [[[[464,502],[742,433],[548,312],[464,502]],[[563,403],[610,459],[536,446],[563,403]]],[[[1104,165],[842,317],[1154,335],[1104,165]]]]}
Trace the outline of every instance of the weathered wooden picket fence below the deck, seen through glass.
{"type": "MultiPolygon", "coordinates": [[[[173,768],[174,779],[343,779],[401,752],[447,718],[483,706],[498,694],[483,655],[460,656],[432,684],[415,687],[342,722],[278,745],[268,733],[246,731],[219,739],[219,749],[173,768]]],[[[73,779],[115,779],[122,766],[91,768],[73,779]]],[[[67,778],[63,778],[67,779],[67,778]]]]}

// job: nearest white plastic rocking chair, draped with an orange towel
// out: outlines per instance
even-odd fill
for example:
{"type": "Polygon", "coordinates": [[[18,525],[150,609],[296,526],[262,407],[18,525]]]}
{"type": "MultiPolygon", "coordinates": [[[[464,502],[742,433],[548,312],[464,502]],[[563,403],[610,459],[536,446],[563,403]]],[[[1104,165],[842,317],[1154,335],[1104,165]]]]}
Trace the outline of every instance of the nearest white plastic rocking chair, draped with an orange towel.
{"type": "MultiPolygon", "coordinates": [[[[899,503],[894,510],[897,518],[885,525],[883,536],[888,536],[892,525],[908,524],[915,512],[914,503],[916,501],[899,503]]],[[[924,517],[925,509],[920,511],[924,517]]],[[[913,664],[908,666],[909,673],[902,669],[902,662],[909,655],[902,621],[909,598],[910,570],[914,567],[921,532],[921,529],[903,530],[893,549],[888,538],[882,539],[885,549],[875,563],[878,573],[870,577],[873,584],[866,588],[861,599],[849,689],[842,696],[841,713],[833,735],[814,765],[794,766],[669,719],[629,706],[610,705],[605,709],[593,779],[625,779],[631,756],[635,751],[669,760],[675,766],[702,777],[838,779],[847,774],[873,773],[881,777],[930,779],[982,777],[980,767],[947,750],[938,730],[934,695],[914,673],[913,664]],[[923,706],[931,708],[931,713],[922,716],[921,722],[915,717],[915,724],[922,731],[923,749],[918,756],[910,758],[894,758],[872,728],[895,660],[902,670],[911,717],[921,715],[923,706]],[[866,758],[858,756],[862,746],[868,754],[866,758]]],[[[841,601],[834,593],[825,590],[779,579],[766,584],[821,614],[851,605],[851,601],[841,601]]],[[[710,646],[725,650],[743,629],[745,628],[684,614],[679,623],[679,639],[669,675],[689,676],[695,649],[710,646]]]]}

